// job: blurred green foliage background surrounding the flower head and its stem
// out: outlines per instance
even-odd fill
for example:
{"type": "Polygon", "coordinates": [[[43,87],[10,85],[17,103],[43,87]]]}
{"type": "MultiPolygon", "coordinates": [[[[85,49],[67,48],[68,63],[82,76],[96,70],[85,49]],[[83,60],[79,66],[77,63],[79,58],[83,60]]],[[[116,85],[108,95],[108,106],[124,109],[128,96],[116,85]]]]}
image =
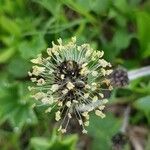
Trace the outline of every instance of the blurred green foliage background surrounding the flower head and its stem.
{"type": "Polygon", "coordinates": [[[132,111],[124,149],[136,149],[134,139],[150,150],[149,77],[114,90],[107,117],[91,115],[88,135],[59,135],[53,114],[45,114],[42,107],[32,109],[30,59],[51,41],[72,36],[104,50],[115,67],[150,65],[150,1],[0,0],[0,150],[110,150],[127,105],[132,111]]]}

